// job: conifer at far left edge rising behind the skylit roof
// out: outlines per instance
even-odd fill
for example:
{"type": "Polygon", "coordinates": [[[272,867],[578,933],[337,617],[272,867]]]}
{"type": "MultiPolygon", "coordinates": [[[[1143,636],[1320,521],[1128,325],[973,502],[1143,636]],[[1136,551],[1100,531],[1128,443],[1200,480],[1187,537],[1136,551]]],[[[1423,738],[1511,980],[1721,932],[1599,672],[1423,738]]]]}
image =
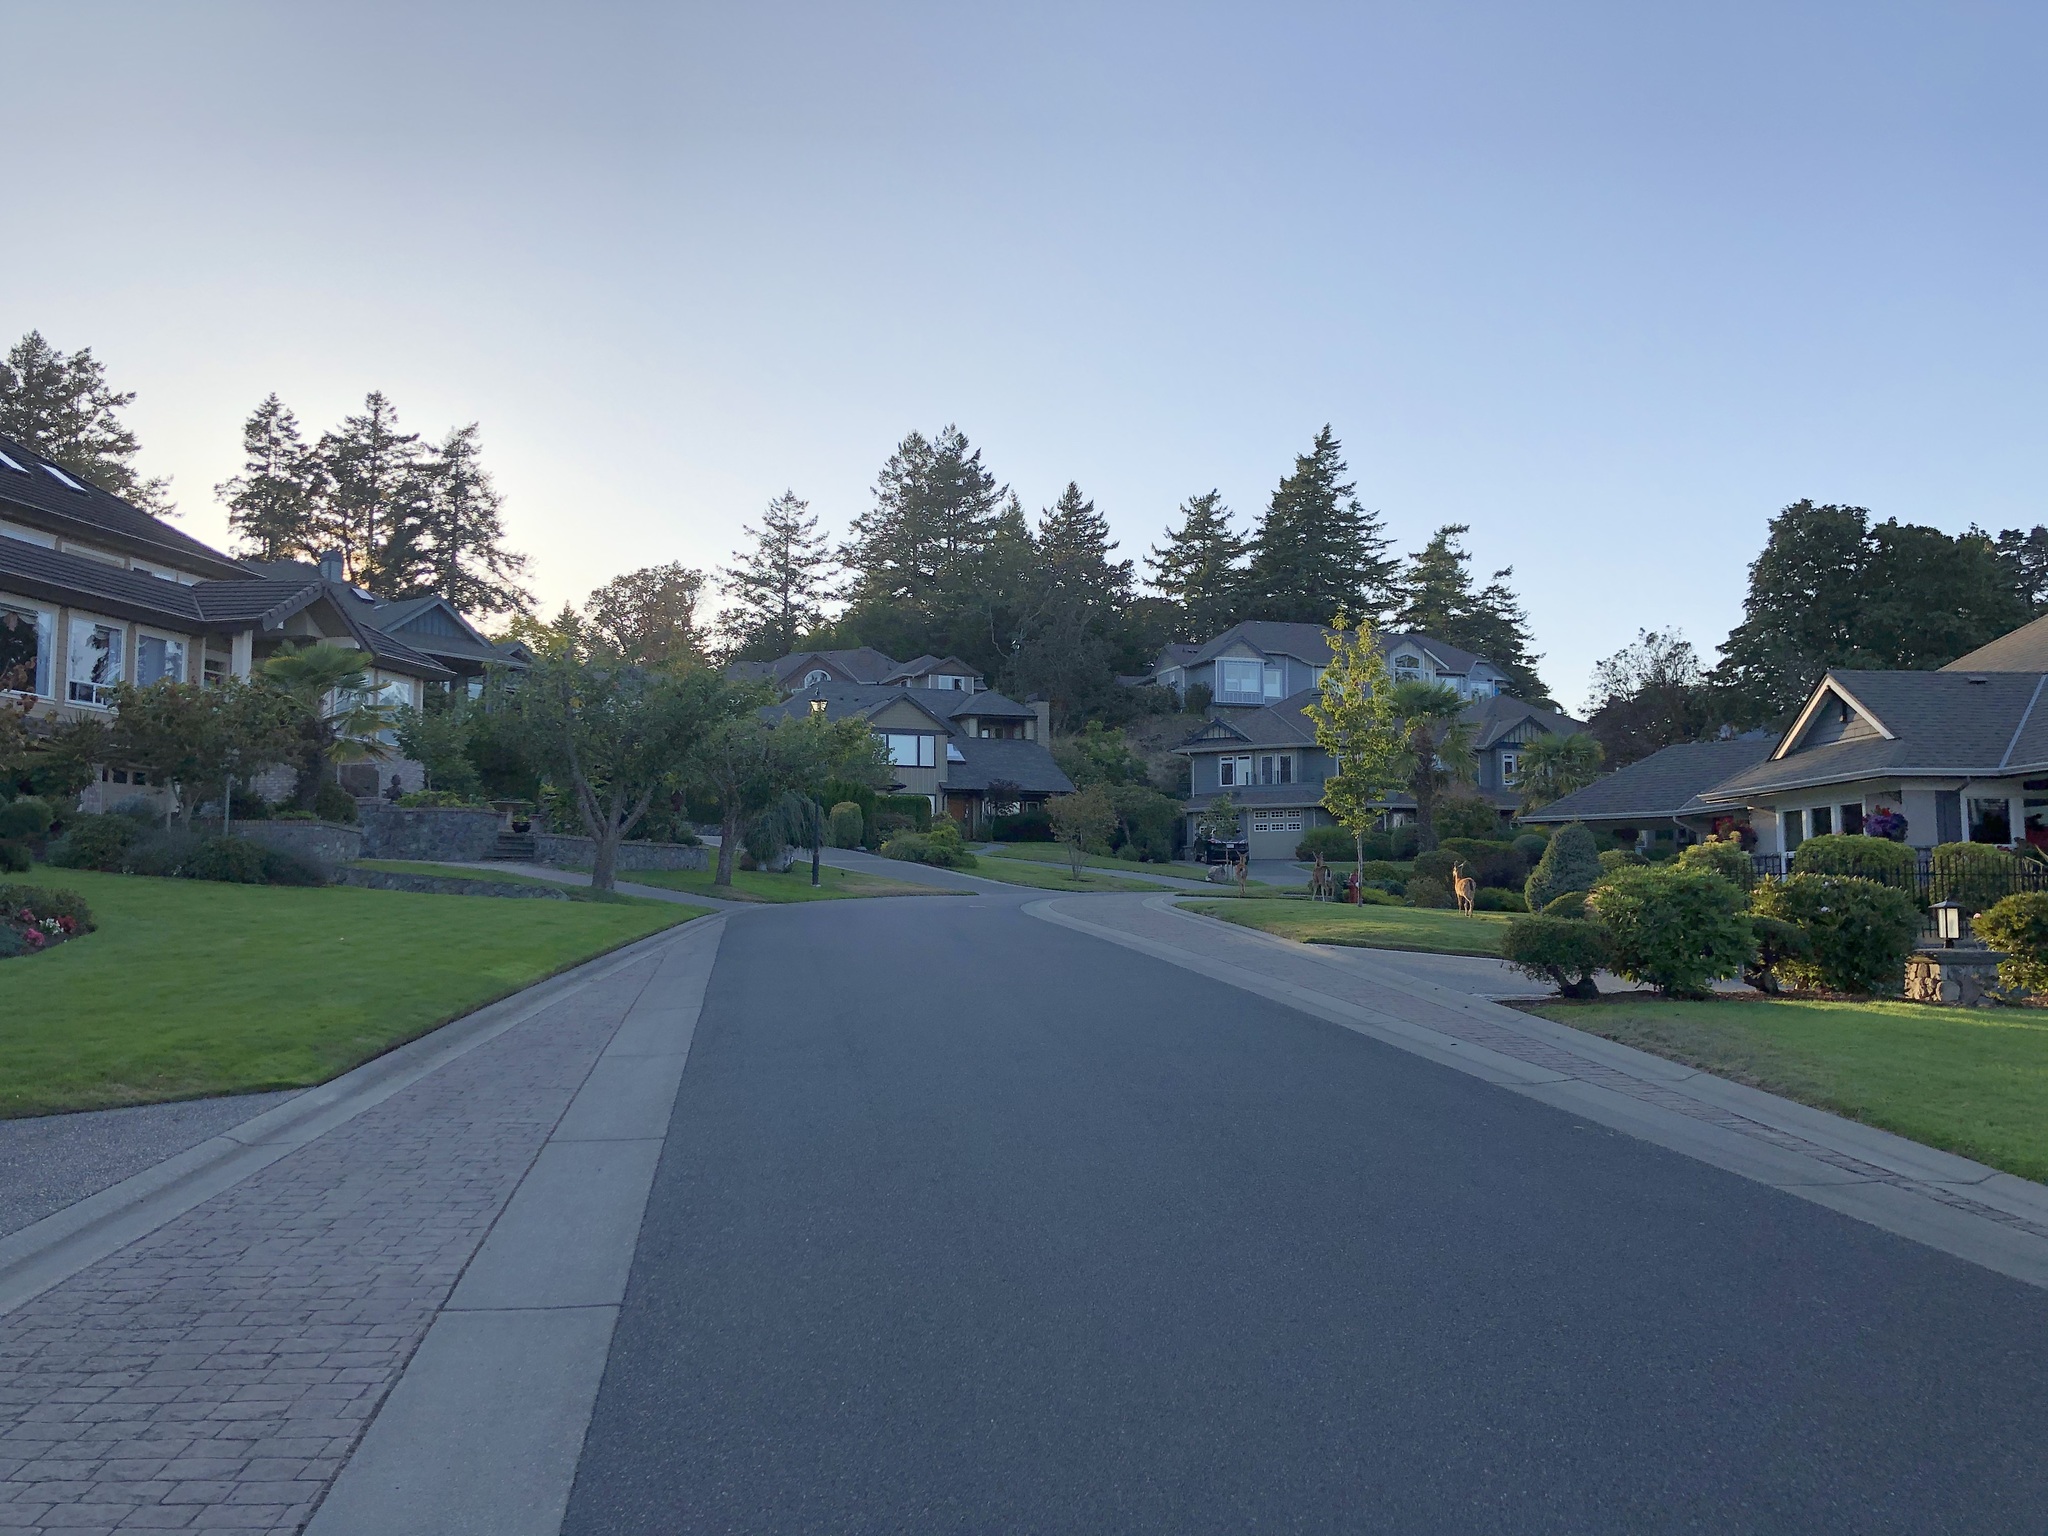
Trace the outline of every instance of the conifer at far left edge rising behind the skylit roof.
{"type": "Polygon", "coordinates": [[[82,479],[160,518],[176,514],[170,481],[143,479],[131,463],[139,453],[121,412],[135,391],[106,383],[90,346],[63,354],[31,330],[0,362],[0,436],[10,436],[82,479]]]}

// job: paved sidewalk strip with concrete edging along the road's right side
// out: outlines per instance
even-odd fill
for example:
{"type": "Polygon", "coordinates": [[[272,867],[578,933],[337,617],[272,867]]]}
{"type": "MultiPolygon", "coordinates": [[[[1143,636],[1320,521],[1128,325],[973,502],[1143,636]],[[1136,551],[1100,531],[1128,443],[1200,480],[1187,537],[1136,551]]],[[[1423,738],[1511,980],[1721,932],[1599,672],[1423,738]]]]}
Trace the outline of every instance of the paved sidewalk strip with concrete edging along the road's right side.
{"type": "Polygon", "coordinates": [[[1415,977],[1378,950],[1296,944],[1171,897],[1026,911],[2048,1288],[2048,1188],[2032,1180],[1415,977]]]}

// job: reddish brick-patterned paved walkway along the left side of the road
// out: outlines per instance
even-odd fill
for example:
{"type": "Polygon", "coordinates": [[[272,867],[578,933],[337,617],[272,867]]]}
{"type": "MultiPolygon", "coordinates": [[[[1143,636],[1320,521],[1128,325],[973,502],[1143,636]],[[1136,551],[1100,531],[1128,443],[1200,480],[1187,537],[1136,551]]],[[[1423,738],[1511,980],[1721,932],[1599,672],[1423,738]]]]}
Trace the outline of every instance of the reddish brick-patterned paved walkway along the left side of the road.
{"type": "MultiPolygon", "coordinates": [[[[0,1315],[0,1530],[301,1530],[606,1047],[659,1010],[662,967],[709,971],[721,928],[569,973],[0,1315]]],[[[608,1092],[631,1098],[633,1075],[608,1092]]]]}

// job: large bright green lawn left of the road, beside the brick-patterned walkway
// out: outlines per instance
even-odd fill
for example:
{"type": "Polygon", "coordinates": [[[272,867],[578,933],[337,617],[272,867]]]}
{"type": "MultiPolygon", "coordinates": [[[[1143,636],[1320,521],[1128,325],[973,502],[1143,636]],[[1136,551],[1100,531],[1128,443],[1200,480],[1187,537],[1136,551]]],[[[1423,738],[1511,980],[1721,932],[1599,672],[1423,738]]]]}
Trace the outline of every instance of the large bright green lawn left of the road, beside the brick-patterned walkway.
{"type": "Polygon", "coordinates": [[[700,907],[37,868],[98,932],[0,961],[0,1116],[305,1087],[700,907]]]}

